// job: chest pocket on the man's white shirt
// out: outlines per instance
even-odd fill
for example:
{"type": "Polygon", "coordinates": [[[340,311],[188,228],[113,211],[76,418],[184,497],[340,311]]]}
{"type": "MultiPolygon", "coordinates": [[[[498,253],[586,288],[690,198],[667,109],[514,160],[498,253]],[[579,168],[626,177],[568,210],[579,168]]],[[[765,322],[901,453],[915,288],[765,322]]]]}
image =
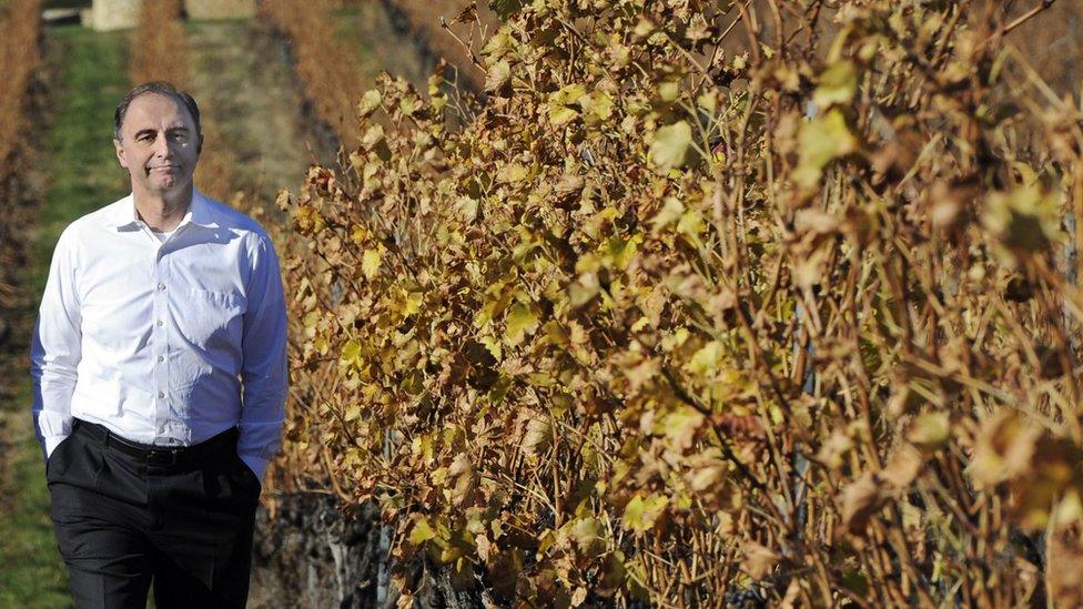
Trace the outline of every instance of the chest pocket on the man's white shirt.
{"type": "Polygon", "coordinates": [[[175,322],[188,342],[205,351],[240,351],[244,296],[200,288],[189,290],[185,296],[175,322]]]}

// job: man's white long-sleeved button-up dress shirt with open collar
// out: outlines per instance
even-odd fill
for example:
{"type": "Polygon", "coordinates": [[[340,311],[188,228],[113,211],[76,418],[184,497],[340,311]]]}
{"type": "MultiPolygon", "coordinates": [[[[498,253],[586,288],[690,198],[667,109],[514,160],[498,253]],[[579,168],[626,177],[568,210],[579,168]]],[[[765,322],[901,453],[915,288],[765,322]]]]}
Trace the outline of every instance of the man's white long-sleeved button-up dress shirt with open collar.
{"type": "Polygon", "coordinates": [[[282,277],[263,227],[198,191],[154,235],[132,195],[57,243],[30,348],[48,458],[72,417],[133,441],[188,446],[237,425],[263,479],[287,385],[282,277]]]}

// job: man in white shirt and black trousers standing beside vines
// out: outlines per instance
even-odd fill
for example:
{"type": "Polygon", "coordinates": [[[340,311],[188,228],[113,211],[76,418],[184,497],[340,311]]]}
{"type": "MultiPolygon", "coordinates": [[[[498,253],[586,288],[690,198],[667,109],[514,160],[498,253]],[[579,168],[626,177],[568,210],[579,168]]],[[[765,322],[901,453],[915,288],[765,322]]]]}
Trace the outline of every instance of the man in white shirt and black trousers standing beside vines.
{"type": "Polygon", "coordinates": [[[130,91],[132,193],[61,234],[31,344],[51,516],[79,607],[243,607],[286,392],[271,240],[200,194],[199,108],[130,91]]]}

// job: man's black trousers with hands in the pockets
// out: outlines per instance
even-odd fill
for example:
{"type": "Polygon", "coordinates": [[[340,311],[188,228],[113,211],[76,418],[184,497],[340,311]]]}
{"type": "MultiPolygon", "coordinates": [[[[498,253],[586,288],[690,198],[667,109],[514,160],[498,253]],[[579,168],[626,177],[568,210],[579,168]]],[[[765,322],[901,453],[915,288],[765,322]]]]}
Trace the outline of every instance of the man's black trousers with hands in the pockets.
{"type": "MultiPolygon", "coordinates": [[[[45,465],[75,605],[244,607],[260,480],[230,429],[181,454],[143,454],[75,420],[45,465]]],[[[144,448],[151,448],[143,446],[144,448]]]]}

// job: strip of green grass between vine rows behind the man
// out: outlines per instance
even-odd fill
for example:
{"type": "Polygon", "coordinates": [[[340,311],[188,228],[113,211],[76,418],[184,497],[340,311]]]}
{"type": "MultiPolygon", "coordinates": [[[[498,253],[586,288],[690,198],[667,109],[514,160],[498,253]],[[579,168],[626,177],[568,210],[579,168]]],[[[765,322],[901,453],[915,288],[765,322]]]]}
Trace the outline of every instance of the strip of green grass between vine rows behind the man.
{"type": "MultiPolygon", "coordinates": [[[[34,295],[24,317],[33,322],[44,288],[52,250],[72,220],[128,193],[123,170],[110,141],[112,112],[128,89],[128,38],[124,33],[94,33],[80,27],[49,29],[45,33],[51,72],[53,118],[45,133],[32,133],[44,145],[39,170],[47,192],[39,220],[29,232],[29,265],[22,285],[34,295]]],[[[26,331],[24,331],[26,332],[26,331]]],[[[17,336],[22,344],[29,337],[17,336]]],[[[44,465],[30,425],[31,387],[24,349],[2,356],[17,385],[0,404],[7,420],[11,454],[9,471],[0,484],[10,497],[8,514],[0,514],[0,607],[71,607],[67,572],[57,551],[49,519],[44,465]]]]}

